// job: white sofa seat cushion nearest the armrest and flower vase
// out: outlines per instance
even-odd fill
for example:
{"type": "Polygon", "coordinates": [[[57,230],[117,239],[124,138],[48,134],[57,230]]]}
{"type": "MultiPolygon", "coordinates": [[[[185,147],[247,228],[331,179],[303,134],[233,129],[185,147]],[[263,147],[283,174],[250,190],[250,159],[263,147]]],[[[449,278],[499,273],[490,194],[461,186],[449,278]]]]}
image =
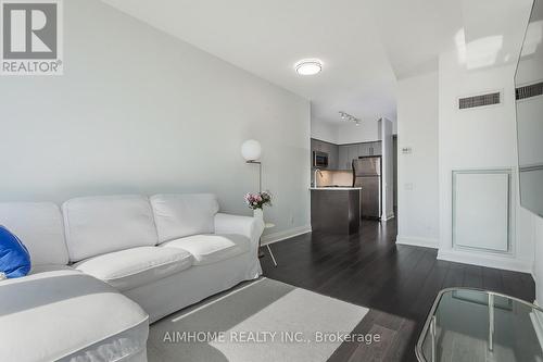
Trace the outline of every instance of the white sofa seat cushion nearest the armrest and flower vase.
{"type": "MultiPolygon", "coordinates": [[[[194,265],[206,265],[230,259],[250,250],[251,242],[241,235],[193,235],[166,241],[161,248],[179,248],[194,257],[194,265]]],[[[256,258],[256,257],[255,257],[256,258]]]]}

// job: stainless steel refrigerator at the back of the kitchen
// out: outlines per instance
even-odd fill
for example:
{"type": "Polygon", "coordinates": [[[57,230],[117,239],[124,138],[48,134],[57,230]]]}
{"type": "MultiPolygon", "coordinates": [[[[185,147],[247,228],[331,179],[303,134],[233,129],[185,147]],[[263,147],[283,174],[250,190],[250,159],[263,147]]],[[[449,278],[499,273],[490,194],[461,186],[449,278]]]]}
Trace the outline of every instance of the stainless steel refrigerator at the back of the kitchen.
{"type": "Polygon", "coordinates": [[[381,174],[380,155],[353,160],[353,186],[362,187],[362,217],[381,219],[381,174]]]}

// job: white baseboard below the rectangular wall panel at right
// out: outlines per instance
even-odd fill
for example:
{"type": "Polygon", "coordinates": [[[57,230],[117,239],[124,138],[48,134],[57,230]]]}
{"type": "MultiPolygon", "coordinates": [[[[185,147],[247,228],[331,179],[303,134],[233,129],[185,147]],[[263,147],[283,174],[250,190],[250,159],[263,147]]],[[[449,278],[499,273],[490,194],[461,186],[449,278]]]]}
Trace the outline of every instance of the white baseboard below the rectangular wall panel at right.
{"type": "Polygon", "coordinates": [[[479,265],[485,267],[503,269],[506,271],[532,273],[532,262],[517,260],[513,258],[501,258],[494,255],[483,255],[476,252],[460,250],[440,250],[438,260],[445,260],[455,263],[479,265]]]}

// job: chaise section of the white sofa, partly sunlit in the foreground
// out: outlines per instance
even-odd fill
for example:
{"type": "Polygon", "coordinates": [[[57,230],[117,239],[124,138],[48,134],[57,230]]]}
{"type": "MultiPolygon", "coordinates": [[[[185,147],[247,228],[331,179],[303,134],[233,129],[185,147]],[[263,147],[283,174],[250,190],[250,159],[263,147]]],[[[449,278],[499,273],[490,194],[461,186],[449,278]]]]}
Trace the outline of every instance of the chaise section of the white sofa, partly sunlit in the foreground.
{"type": "Polygon", "coordinates": [[[3,280],[0,300],[0,361],[128,361],[146,348],[148,314],[80,272],[3,280]]]}

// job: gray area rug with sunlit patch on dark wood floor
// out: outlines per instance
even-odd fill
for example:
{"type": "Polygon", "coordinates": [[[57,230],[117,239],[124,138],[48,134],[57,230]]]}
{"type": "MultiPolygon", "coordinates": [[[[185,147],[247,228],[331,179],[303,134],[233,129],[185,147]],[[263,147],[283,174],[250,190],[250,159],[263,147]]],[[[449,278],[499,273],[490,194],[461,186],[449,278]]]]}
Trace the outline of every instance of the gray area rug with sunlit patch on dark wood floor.
{"type": "Polygon", "coordinates": [[[326,361],[366,308],[261,278],[150,328],[149,362],[326,361]]]}

